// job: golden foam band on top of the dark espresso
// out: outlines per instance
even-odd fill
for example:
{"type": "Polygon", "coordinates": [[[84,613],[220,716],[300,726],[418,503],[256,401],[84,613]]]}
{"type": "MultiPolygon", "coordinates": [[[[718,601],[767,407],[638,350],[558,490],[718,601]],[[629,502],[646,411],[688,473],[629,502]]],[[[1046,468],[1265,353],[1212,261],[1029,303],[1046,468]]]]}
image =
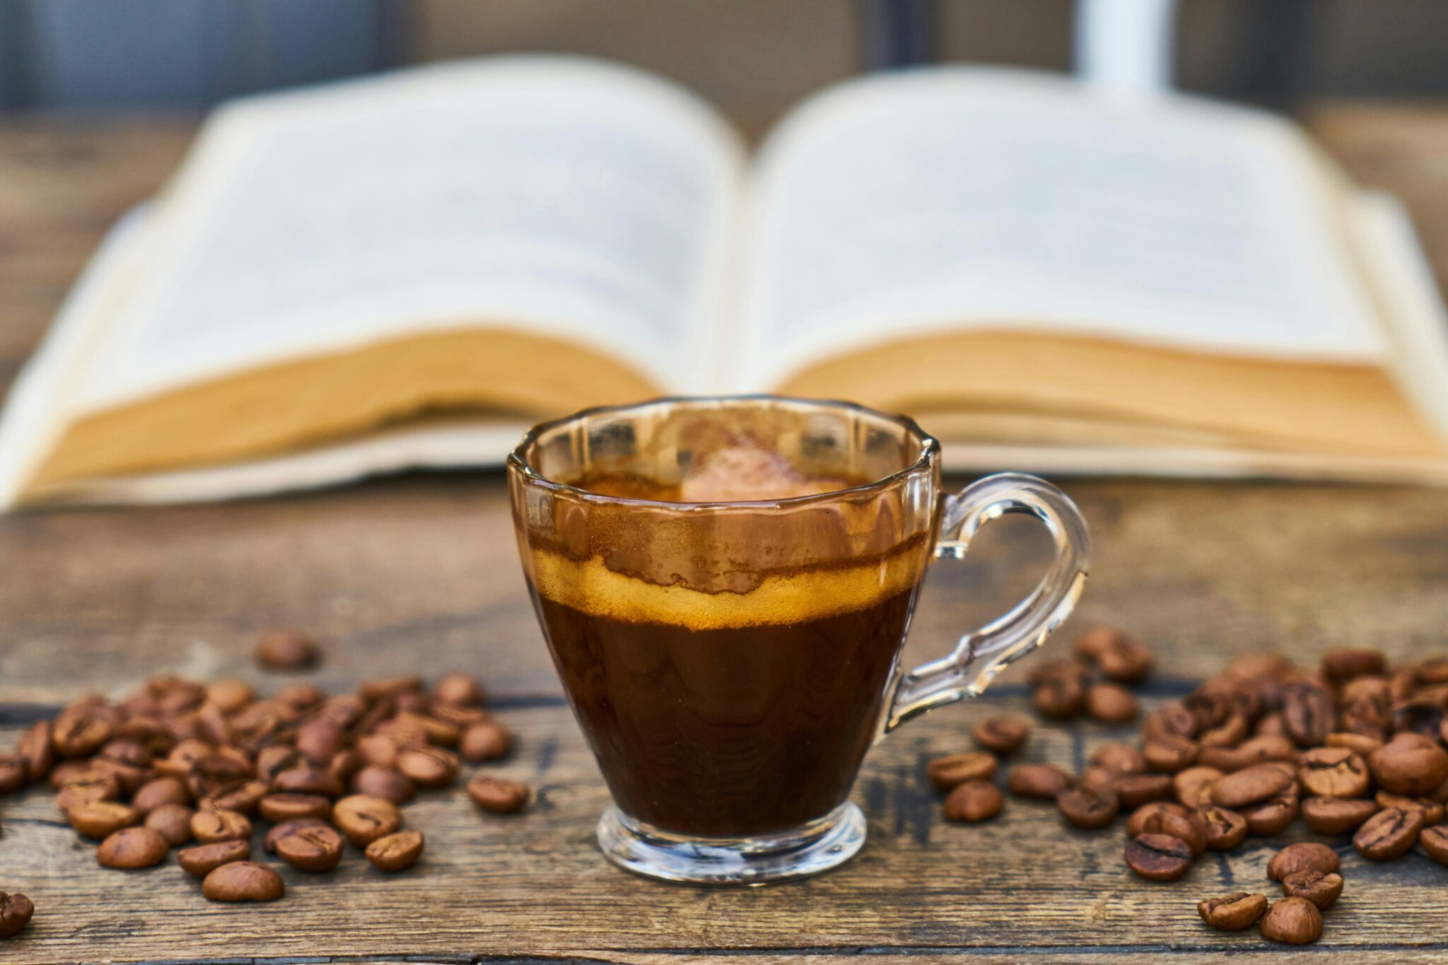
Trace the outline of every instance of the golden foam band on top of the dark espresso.
{"type": "Polygon", "coordinates": [[[763,573],[746,593],[659,584],[610,570],[598,557],[533,551],[540,596],[594,616],[688,629],[779,626],[862,611],[908,590],[924,574],[924,543],[854,566],[763,573]]]}

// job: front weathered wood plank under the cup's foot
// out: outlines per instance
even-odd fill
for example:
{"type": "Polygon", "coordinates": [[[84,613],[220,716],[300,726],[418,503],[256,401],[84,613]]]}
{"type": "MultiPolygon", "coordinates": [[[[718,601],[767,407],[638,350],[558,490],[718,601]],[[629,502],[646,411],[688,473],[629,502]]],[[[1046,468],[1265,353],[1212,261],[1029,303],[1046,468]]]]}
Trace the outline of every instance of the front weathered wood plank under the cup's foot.
{"type": "MultiPolygon", "coordinates": [[[[1040,949],[1166,953],[1264,948],[1255,932],[1224,935],[1196,916],[1202,897],[1268,891],[1267,842],[1209,855],[1183,881],[1148,884],[1121,859],[1121,823],[1106,832],[1063,826],[1054,809],[1008,802],[996,820],[967,828],[940,817],[924,762],[966,747],[976,716],[1022,710],[1019,697],[982,700],[906,726],[877,747],[856,788],[870,841],[828,875],[756,891],[665,885],[615,871],[592,826],[607,791],[563,707],[505,712],[520,749],[500,771],[533,781],[540,803],[517,817],[482,817],[458,791],[407,806],[427,835],[414,870],[385,877],[355,852],[334,875],[282,867],[290,894],[253,909],[209,904],[168,861],[142,872],[103,871],[93,845],[32,791],[7,802],[0,868],[6,890],[38,911],[23,943],[0,948],[28,962],[146,961],[188,955],[565,955],[599,958],[694,949],[867,949],[882,953],[1040,949]]],[[[1079,767],[1096,741],[1124,731],[1041,726],[1030,760],[1079,767]]],[[[1303,828],[1295,836],[1305,835],[1303,828]]],[[[1322,948],[1434,945],[1448,935],[1448,868],[1412,855],[1370,865],[1345,842],[1341,903],[1322,948]]],[[[258,848],[258,852],[261,849],[258,848]]],[[[624,958],[623,961],[628,961],[624,958]]],[[[1032,959],[1034,961],[1034,959],[1032,959]]]]}

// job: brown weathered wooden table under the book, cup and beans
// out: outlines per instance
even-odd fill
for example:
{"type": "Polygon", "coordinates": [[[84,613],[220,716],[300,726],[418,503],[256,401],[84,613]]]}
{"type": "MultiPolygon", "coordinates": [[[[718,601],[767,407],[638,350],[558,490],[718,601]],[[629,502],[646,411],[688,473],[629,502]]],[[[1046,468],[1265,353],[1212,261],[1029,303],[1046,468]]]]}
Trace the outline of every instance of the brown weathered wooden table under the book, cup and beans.
{"type": "MultiPolygon", "coordinates": [[[[1332,107],[1329,149],[1412,207],[1448,278],[1448,110],[1332,107]]],[[[14,373],[107,224],[165,178],[185,124],[0,127],[0,378],[14,373]]],[[[1448,493],[1409,488],[1072,482],[1096,540],[1067,632],[1105,621],[1151,639],[1148,703],[1184,693],[1228,657],[1277,648],[1312,663],[1332,645],[1393,658],[1448,651],[1448,493]]],[[[906,660],[943,650],[1011,602],[1044,554],[1030,524],[988,528],[963,571],[933,576],[906,660]],[[964,590],[969,587],[969,593],[964,590]]],[[[951,567],[956,570],[956,567],[951,567]]],[[[227,506],[67,511],[0,519],[0,745],[87,690],[127,692],[175,671],[279,686],[249,661],[274,625],[329,644],[314,679],[463,668],[484,677],[520,742],[497,768],[539,788],[527,815],[481,817],[458,791],[407,807],[427,833],[408,872],[356,855],[329,877],[282,867],[285,900],[204,901],[168,862],[103,871],[49,791],[0,802],[0,890],[36,916],[0,962],[556,961],[668,962],[867,953],[876,961],[1192,959],[1268,955],[1397,962],[1448,955],[1448,868],[1344,851],[1347,894],[1321,943],[1290,952],[1255,930],[1211,932],[1199,898],[1267,890],[1276,842],[1209,855],[1167,885],[1121,861],[1121,826],[1063,828],[1009,802],[996,820],[947,825],[924,761],[964,749],[972,720],[1024,709],[1019,668],[988,699],[940,710],[877,747],[857,800],[869,843],[841,870],[753,891],[670,887],[614,871],[592,843],[607,796],[533,622],[501,482],[413,476],[227,506]]],[[[1025,760],[1080,768],[1099,725],[1040,726],[1025,760]]],[[[1297,826],[1296,835],[1305,829],[1297,826]]]]}

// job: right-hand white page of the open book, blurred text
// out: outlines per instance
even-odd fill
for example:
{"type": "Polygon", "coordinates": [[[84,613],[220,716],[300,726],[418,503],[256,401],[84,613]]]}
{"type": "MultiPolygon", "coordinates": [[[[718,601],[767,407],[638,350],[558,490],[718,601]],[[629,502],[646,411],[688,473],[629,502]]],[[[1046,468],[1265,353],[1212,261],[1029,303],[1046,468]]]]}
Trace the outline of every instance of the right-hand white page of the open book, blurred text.
{"type": "Polygon", "coordinates": [[[737,363],[767,388],[953,328],[1377,363],[1331,171],[1286,122],[1192,97],[989,68],[857,81],[766,142],[737,363]]]}

